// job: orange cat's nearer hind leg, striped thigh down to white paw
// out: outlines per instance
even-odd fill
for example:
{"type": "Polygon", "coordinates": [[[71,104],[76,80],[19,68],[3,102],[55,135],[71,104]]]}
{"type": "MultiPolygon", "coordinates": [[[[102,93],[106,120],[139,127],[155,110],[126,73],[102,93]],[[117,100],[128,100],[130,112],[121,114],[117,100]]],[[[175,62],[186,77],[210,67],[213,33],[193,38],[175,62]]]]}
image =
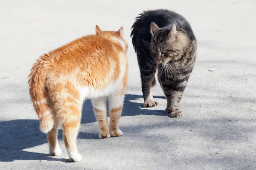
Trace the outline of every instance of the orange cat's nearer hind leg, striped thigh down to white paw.
{"type": "Polygon", "coordinates": [[[81,161],[82,157],[76,147],[82,108],[79,91],[72,85],[66,85],[64,88],[59,86],[55,88],[52,101],[54,101],[53,108],[63,127],[63,140],[70,161],[81,161]]]}

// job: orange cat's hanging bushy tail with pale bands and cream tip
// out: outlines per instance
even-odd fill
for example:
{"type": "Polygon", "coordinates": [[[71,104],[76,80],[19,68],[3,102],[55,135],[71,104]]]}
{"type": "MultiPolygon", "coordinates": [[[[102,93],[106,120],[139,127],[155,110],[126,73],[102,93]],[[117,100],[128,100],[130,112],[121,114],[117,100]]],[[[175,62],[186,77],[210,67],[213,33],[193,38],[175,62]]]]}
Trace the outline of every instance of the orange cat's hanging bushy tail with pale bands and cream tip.
{"type": "Polygon", "coordinates": [[[49,71],[49,66],[51,65],[50,63],[47,54],[41,56],[32,66],[28,82],[29,94],[40,121],[40,130],[43,133],[48,133],[54,125],[54,117],[45,87],[45,79],[49,71]]]}

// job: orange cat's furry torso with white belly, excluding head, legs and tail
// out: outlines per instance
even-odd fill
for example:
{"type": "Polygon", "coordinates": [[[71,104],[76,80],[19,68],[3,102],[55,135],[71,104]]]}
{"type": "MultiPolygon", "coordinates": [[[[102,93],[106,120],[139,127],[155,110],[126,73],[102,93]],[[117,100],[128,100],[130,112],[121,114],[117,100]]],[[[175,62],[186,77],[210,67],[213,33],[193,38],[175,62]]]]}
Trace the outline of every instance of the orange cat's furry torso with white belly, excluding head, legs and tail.
{"type": "Polygon", "coordinates": [[[121,45],[99,35],[81,37],[43,57],[52,60],[46,84],[70,81],[81,87],[82,98],[113,93],[128,69],[121,45]]]}

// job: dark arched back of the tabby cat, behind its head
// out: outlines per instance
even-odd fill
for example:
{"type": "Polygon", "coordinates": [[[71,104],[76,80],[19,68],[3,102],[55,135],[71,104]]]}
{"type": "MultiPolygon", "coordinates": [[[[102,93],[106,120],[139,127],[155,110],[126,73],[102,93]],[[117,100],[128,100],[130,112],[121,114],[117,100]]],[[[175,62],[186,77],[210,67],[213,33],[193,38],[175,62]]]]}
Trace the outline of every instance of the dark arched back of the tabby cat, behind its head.
{"type": "Polygon", "coordinates": [[[134,22],[133,26],[131,27],[131,37],[135,47],[138,39],[143,39],[150,42],[150,24],[152,22],[156,23],[160,28],[166,26],[171,27],[175,23],[177,29],[183,29],[191,39],[195,39],[189,22],[180,14],[166,9],[148,10],[139,14],[139,16],[136,17],[136,21],[134,22]]]}

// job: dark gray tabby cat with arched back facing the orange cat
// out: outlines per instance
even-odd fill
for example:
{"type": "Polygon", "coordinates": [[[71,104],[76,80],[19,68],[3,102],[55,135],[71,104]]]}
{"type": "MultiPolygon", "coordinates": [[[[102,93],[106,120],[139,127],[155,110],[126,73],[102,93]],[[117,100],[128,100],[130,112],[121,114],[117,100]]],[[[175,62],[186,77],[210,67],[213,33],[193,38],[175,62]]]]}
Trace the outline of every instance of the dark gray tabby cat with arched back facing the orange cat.
{"type": "Polygon", "coordinates": [[[168,10],[144,11],[132,26],[145,107],[154,107],[151,86],[158,81],[167,99],[166,113],[183,115],[180,100],[195,64],[197,42],[184,17],[168,10]]]}

